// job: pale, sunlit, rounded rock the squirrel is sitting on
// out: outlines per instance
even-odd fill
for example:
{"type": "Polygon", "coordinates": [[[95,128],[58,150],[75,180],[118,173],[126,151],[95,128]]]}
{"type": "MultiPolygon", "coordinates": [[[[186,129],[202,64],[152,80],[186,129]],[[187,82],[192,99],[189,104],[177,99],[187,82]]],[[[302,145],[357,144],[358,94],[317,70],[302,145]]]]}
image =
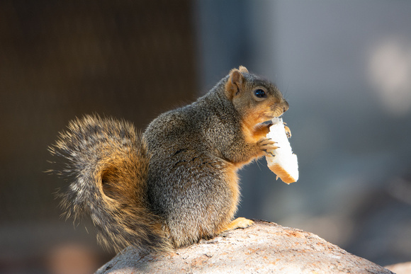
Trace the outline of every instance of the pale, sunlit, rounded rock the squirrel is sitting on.
{"type": "Polygon", "coordinates": [[[128,247],[96,273],[391,273],[310,232],[255,221],[167,255],[128,247]]]}

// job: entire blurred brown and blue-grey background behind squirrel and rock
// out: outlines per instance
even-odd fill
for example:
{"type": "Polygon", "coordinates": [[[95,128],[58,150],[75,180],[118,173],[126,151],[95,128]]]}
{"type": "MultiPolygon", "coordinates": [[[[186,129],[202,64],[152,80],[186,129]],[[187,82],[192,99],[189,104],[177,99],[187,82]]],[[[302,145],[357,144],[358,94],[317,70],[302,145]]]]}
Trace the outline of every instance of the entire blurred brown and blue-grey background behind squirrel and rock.
{"type": "Polygon", "coordinates": [[[0,273],[92,273],[114,253],[60,218],[47,146],[85,113],[144,129],[244,65],[290,103],[300,179],[240,171],[238,216],[411,261],[410,1],[0,1],[0,273]],[[70,272],[71,271],[71,272],[70,272]]]}

